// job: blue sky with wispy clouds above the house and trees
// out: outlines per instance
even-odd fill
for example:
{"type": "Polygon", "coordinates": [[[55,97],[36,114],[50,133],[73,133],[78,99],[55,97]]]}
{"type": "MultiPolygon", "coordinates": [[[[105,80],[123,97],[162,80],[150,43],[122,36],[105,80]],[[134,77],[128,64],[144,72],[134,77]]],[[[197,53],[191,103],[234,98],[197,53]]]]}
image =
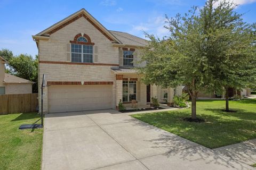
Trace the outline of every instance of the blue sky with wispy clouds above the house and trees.
{"type": "MultiPolygon", "coordinates": [[[[256,22],[256,0],[230,0],[240,4],[236,11],[245,13],[246,22],[256,22]]],[[[109,30],[129,32],[144,38],[143,32],[158,37],[167,35],[163,28],[165,14],[169,17],[185,13],[193,5],[203,6],[204,0],[99,0],[99,1],[12,1],[0,0],[0,49],[14,55],[37,54],[31,35],[50,27],[68,15],[85,8],[109,30]]]]}

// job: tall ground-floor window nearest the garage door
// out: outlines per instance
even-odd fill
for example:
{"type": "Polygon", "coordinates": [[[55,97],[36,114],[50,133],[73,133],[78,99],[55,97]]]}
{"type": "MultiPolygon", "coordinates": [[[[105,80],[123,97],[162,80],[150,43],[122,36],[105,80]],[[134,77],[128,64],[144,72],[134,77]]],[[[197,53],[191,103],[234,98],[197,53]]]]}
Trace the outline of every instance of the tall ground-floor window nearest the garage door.
{"type": "Polygon", "coordinates": [[[123,81],[123,102],[136,100],[136,81],[123,81]]]}

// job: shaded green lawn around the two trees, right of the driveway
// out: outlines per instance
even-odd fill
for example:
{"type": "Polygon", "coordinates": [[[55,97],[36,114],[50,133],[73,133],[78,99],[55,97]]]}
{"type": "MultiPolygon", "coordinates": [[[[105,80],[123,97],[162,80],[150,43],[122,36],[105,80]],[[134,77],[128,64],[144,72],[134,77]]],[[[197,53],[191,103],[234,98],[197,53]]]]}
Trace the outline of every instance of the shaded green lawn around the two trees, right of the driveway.
{"type": "Polygon", "coordinates": [[[204,118],[204,123],[183,121],[190,117],[190,108],[132,116],[208,148],[256,138],[256,99],[230,101],[229,105],[237,112],[222,112],[224,100],[198,100],[197,117],[204,118]]]}

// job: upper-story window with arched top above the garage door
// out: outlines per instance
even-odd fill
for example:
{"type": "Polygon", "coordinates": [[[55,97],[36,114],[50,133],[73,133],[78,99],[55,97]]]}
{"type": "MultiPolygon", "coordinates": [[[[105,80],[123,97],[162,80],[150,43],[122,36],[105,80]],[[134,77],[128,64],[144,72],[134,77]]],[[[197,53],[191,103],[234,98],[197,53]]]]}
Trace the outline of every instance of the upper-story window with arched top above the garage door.
{"type": "MultiPolygon", "coordinates": [[[[79,37],[77,41],[87,42],[84,37],[79,37]]],[[[93,63],[93,46],[71,44],[71,62],[93,63]]]]}

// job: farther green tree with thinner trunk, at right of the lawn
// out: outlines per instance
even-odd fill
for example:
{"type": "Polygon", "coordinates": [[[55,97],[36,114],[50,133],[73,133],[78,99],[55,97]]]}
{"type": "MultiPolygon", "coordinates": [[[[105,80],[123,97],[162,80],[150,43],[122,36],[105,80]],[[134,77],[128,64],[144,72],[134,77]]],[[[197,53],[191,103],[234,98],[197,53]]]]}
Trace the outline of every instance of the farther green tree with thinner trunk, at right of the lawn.
{"type": "Polygon", "coordinates": [[[248,24],[235,12],[234,3],[208,1],[201,12],[206,31],[205,56],[213,74],[209,89],[225,89],[229,111],[229,89],[250,87],[256,80],[255,24],[248,24]]]}

